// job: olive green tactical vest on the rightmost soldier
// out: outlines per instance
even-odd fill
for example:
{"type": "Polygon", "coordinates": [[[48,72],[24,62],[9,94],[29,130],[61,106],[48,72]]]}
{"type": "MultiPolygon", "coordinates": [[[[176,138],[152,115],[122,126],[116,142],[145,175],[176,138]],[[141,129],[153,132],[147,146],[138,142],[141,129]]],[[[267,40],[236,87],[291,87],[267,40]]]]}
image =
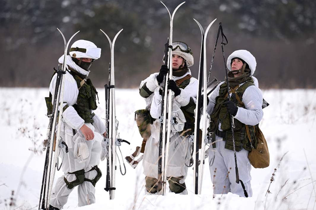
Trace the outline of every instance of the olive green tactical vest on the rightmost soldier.
{"type": "MultiPolygon", "coordinates": [[[[237,90],[235,90],[236,95],[240,98],[240,102],[242,101],[242,96],[245,90],[249,87],[254,85],[252,82],[245,82],[242,84],[237,90]]],[[[231,92],[231,91],[230,91],[231,92]]],[[[236,96],[237,97],[237,96],[236,96]]],[[[223,138],[225,142],[225,149],[234,150],[233,148],[233,140],[232,140],[232,132],[231,132],[231,122],[230,122],[230,115],[227,111],[227,107],[223,104],[228,101],[227,98],[227,84],[223,83],[219,89],[219,95],[216,97],[216,102],[214,106],[214,111],[210,115],[211,118],[211,125],[210,131],[215,131],[218,129],[219,122],[221,122],[221,129],[226,132],[226,137],[223,138]]],[[[240,103],[236,100],[235,104],[239,107],[245,108],[244,104],[240,103]]],[[[234,118],[234,137],[235,137],[235,149],[236,151],[240,151],[242,148],[245,150],[251,151],[251,143],[246,135],[246,127],[245,124],[234,118]]],[[[254,131],[254,127],[256,126],[249,126],[250,136],[252,139],[252,145],[256,148],[257,146],[257,139],[254,131]]],[[[213,144],[215,147],[215,144],[213,144]]]]}

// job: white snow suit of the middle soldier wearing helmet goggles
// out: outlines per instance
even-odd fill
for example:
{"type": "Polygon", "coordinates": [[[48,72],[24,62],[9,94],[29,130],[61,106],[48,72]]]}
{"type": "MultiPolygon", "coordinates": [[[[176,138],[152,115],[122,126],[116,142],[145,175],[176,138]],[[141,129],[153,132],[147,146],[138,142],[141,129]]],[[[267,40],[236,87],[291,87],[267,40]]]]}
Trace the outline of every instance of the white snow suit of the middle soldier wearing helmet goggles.
{"type": "MultiPolygon", "coordinates": [[[[179,80],[186,75],[190,74],[189,70],[185,75],[181,77],[173,77],[173,80],[179,80]]],[[[150,115],[157,119],[152,125],[150,125],[151,136],[146,142],[146,147],[144,151],[143,158],[143,168],[144,174],[147,177],[158,178],[158,152],[159,152],[159,134],[160,134],[160,122],[159,117],[161,115],[161,100],[162,97],[159,94],[160,85],[157,82],[158,73],[151,74],[148,78],[143,80],[140,84],[140,88],[146,82],[146,87],[154,92],[148,98],[145,98],[147,109],[150,110],[150,115]]],[[[184,88],[180,88],[181,93],[173,98],[172,105],[172,116],[176,117],[178,124],[172,125],[171,128],[171,138],[169,146],[169,157],[167,164],[167,177],[181,177],[185,179],[187,175],[186,164],[189,164],[190,154],[187,155],[187,148],[189,145],[188,138],[179,135],[179,131],[182,131],[184,128],[184,123],[186,122],[183,112],[180,110],[180,107],[188,105],[190,97],[193,99],[196,98],[197,94],[197,79],[191,77],[190,83],[184,88]],[[187,158],[185,159],[187,155],[187,158]]]]}

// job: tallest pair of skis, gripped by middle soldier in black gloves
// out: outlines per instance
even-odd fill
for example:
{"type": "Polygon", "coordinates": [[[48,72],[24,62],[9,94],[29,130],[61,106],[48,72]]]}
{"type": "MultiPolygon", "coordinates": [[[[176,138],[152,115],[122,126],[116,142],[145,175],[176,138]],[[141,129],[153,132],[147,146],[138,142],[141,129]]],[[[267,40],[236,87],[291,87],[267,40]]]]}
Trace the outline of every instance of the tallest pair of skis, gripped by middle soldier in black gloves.
{"type": "MultiPolygon", "coordinates": [[[[162,2],[161,2],[162,3],[162,2]]],[[[169,142],[171,134],[171,121],[172,121],[172,99],[173,92],[168,90],[167,79],[172,79],[172,38],[173,38],[173,18],[179,7],[185,2],[180,3],[176,9],[174,9],[172,15],[170,14],[167,6],[162,3],[168,11],[170,18],[170,34],[169,34],[169,47],[165,47],[165,64],[169,68],[169,72],[163,78],[162,88],[163,96],[161,103],[161,127],[160,127],[160,138],[159,138],[159,157],[158,157],[158,189],[161,187],[162,195],[166,195],[166,184],[167,184],[167,164],[168,164],[168,154],[169,154],[169,142]],[[167,54],[168,49],[168,54],[167,54]],[[167,56],[166,56],[167,55],[167,56]],[[168,103],[167,103],[168,102],[168,103]],[[168,107],[168,116],[167,116],[168,107]],[[168,119],[168,121],[167,121],[168,119]]]]}

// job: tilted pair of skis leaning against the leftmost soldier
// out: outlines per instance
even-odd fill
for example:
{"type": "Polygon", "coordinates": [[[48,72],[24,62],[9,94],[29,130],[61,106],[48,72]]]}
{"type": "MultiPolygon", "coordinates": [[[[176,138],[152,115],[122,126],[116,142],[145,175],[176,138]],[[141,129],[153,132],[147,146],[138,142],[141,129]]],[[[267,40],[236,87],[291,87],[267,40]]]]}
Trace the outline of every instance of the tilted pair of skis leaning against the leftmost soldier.
{"type": "MultiPolygon", "coordinates": [[[[64,39],[64,62],[61,69],[57,71],[57,80],[55,85],[55,92],[53,96],[52,103],[52,113],[49,115],[49,132],[47,136],[47,142],[43,151],[46,150],[45,165],[42,179],[42,187],[40,192],[40,203],[39,209],[48,209],[49,201],[51,198],[52,185],[54,184],[55,171],[60,169],[61,165],[58,167],[58,155],[60,147],[66,145],[60,137],[61,131],[61,121],[63,114],[63,101],[64,101],[64,74],[66,73],[65,59],[68,51],[68,47],[72,38],[79,32],[77,31],[69,41],[66,43],[64,34],[57,28],[64,39]],[[56,125],[57,133],[56,133],[56,125]],[[53,152],[55,151],[55,153],[53,152]]],[[[66,145],[66,152],[68,152],[68,147],[66,145]]]]}

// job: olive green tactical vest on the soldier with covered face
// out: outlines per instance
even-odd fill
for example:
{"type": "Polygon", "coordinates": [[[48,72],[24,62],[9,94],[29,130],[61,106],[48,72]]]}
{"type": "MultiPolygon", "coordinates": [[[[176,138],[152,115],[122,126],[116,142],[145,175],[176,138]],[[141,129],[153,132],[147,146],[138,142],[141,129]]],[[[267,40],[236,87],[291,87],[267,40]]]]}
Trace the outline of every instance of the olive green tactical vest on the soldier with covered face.
{"type": "MultiPolygon", "coordinates": [[[[55,73],[56,72],[54,72],[54,74],[55,73]]],[[[90,79],[87,79],[87,81],[83,82],[84,79],[79,77],[74,71],[70,71],[69,73],[74,77],[79,90],[77,104],[72,106],[85,123],[93,123],[94,113],[92,113],[92,110],[96,110],[98,107],[96,104],[97,91],[90,79]]],[[[52,94],[49,93],[49,97],[46,97],[45,100],[47,106],[47,115],[50,115],[52,113],[52,94]]]]}

